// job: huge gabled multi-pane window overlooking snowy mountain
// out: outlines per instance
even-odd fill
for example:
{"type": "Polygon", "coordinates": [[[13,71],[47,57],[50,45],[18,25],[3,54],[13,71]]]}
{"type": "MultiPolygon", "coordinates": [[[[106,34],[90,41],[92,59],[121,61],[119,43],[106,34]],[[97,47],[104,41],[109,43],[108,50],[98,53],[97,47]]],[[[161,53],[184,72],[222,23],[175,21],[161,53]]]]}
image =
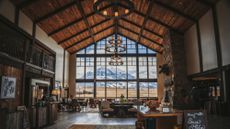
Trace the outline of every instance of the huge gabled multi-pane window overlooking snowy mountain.
{"type": "Polygon", "coordinates": [[[76,54],[76,97],[157,97],[155,51],[122,37],[127,48],[120,55],[124,64],[113,66],[109,64],[112,54],[105,52],[109,38],[76,54]]]}

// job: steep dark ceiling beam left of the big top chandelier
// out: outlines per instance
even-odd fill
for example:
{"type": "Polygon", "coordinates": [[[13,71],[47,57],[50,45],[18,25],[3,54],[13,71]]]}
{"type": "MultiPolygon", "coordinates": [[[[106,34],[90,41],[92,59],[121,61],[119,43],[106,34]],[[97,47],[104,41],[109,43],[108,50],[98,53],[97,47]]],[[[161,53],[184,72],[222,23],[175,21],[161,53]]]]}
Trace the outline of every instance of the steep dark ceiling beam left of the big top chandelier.
{"type": "Polygon", "coordinates": [[[84,12],[84,9],[82,8],[82,5],[81,5],[81,1],[77,1],[77,7],[78,7],[78,10],[80,11],[82,17],[83,17],[83,20],[88,28],[88,31],[89,31],[89,34],[90,34],[90,37],[93,39],[93,42],[95,42],[95,39],[94,39],[94,33],[93,33],[93,30],[87,20],[87,17],[85,15],[85,12],[84,12]]]}

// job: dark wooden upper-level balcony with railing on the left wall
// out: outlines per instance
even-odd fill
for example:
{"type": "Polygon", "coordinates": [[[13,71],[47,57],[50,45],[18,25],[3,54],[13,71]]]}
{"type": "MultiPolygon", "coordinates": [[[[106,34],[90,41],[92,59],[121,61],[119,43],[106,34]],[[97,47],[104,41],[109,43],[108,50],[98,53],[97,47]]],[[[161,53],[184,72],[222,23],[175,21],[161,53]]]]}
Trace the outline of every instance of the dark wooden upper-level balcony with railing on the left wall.
{"type": "Polygon", "coordinates": [[[25,36],[14,27],[0,21],[0,54],[20,63],[29,63],[46,71],[55,71],[55,52],[41,42],[25,36]]]}

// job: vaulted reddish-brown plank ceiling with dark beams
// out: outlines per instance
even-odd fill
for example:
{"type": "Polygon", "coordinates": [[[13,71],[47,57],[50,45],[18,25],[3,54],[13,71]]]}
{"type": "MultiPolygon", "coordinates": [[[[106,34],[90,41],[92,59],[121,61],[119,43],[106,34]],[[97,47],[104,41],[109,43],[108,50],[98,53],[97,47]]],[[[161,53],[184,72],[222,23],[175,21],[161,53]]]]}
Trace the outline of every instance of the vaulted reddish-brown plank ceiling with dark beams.
{"type": "Polygon", "coordinates": [[[185,32],[217,0],[132,0],[134,12],[119,20],[93,10],[94,0],[12,0],[70,53],[118,33],[156,52],[168,29],[185,32]]]}

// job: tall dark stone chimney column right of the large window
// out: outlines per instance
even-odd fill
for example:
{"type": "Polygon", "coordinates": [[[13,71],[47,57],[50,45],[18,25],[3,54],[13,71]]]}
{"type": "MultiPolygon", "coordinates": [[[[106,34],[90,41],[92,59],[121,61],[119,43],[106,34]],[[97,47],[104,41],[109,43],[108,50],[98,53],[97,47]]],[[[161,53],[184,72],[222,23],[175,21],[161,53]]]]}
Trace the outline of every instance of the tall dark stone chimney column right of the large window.
{"type": "MultiPolygon", "coordinates": [[[[187,78],[186,54],[184,49],[184,36],[173,31],[168,31],[164,39],[164,63],[170,67],[173,83],[173,104],[188,104],[188,95],[191,90],[191,82],[187,78]]],[[[165,79],[167,76],[165,76],[165,79]]]]}

